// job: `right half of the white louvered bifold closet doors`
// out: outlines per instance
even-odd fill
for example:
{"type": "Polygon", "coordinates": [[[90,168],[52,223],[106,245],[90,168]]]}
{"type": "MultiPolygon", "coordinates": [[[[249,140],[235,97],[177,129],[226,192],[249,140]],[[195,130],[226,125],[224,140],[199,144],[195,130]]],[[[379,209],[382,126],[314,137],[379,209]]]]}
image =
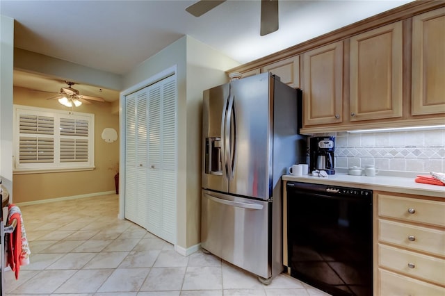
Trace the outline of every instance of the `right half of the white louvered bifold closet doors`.
{"type": "Polygon", "coordinates": [[[176,242],[177,90],[170,76],[149,89],[147,229],[176,242]]]}

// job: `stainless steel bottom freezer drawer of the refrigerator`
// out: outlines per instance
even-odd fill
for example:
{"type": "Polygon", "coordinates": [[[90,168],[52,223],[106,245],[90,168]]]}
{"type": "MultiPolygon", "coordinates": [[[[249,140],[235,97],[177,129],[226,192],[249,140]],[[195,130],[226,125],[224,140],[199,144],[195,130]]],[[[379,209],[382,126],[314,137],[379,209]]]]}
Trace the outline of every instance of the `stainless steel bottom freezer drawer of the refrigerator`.
{"type": "Polygon", "coordinates": [[[270,278],[271,204],[202,190],[202,247],[244,270],[270,278]]]}

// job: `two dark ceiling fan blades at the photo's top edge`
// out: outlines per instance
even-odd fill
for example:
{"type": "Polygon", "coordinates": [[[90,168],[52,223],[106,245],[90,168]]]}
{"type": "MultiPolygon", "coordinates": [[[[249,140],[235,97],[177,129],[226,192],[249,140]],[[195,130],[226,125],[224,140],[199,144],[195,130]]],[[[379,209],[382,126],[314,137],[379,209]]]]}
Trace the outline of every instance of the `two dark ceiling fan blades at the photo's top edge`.
{"type": "MultiPolygon", "coordinates": [[[[200,0],[188,6],[186,11],[200,17],[226,0],[200,0]]],[[[261,0],[261,28],[259,35],[264,36],[278,30],[278,0],[261,0]]]]}

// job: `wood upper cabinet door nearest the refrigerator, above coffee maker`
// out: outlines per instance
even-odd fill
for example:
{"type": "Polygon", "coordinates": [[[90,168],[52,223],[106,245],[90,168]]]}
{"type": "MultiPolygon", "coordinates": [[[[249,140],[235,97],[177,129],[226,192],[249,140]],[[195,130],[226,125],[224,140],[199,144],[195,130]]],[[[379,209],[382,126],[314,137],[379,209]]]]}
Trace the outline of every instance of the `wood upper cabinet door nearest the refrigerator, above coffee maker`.
{"type": "Polygon", "coordinates": [[[302,55],[303,122],[305,126],[343,121],[343,42],[302,55]]]}

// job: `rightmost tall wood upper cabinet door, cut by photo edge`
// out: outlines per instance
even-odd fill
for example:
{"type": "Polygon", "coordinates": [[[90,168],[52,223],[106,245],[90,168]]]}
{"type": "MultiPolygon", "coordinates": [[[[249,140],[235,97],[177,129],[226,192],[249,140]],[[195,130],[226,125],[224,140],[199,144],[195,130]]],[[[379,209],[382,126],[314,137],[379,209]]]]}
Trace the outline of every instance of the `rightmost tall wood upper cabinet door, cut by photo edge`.
{"type": "Polygon", "coordinates": [[[445,113],[445,8],[412,18],[412,115],[445,113]]]}

